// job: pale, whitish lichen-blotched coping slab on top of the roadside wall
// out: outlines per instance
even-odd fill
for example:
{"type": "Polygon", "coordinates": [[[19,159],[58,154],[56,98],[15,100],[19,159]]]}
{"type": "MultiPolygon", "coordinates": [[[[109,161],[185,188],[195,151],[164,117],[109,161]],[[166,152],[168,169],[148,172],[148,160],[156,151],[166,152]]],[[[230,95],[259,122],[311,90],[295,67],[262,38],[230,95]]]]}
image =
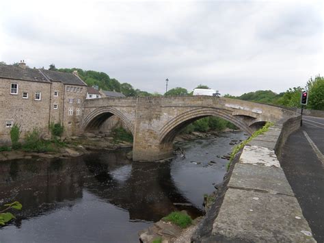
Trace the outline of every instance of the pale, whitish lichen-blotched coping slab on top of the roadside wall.
{"type": "Polygon", "coordinates": [[[244,146],[239,163],[260,164],[280,168],[280,163],[275,155],[275,151],[262,146],[244,146]]]}

